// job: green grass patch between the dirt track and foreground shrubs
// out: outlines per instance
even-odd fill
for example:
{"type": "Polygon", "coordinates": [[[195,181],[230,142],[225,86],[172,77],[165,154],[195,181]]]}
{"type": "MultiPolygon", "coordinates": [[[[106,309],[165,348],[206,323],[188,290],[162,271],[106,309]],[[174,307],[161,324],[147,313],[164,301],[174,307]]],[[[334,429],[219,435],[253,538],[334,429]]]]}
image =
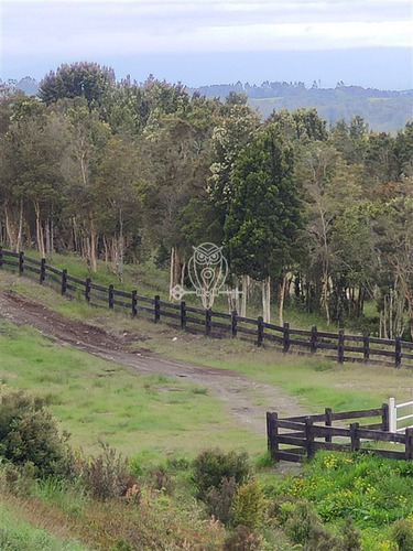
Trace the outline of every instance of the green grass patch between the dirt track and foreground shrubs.
{"type": "Polygon", "coordinates": [[[0,321],[0,366],[2,383],[42,396],[73,444],[88,452],[99,439],[126,455],[160,457],[218,444],[259,453],[264,445],[204,388],[138,375],[6,321],[0,321]]]}

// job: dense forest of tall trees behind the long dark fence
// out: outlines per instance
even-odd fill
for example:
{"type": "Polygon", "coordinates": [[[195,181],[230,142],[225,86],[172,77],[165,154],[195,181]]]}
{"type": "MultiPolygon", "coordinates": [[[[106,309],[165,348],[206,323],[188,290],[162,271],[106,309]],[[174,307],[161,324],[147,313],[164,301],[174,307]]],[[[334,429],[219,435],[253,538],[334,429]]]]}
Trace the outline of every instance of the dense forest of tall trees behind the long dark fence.
{"type": "Polygon", "coordinates": [[[149,77],[62,65],[37,97],[0,98],[1,245],[124,263],[153,259],[185,283],[194,245],[224,247],[246,315],[305,312],[382,337],[413,334],[413,121],[373,132],[357,112],[328,127],[315,108],[265,120],[243,94],[221,100],[149,77]],[[258,282],[258,283],[257,283],[258,282]]]}

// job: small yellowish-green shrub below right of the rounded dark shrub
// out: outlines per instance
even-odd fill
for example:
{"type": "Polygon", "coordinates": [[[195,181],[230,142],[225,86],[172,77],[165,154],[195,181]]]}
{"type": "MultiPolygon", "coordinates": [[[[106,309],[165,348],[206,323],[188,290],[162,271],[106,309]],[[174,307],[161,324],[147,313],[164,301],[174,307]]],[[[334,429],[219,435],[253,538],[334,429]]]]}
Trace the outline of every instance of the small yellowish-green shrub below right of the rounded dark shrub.
{"type": "Polygon", "coordinates": [[[232,501],[236,525],[243,525],[256,530],[262,525],[264,509],[264,496],[256,478],[238,488],[232,501]]]}

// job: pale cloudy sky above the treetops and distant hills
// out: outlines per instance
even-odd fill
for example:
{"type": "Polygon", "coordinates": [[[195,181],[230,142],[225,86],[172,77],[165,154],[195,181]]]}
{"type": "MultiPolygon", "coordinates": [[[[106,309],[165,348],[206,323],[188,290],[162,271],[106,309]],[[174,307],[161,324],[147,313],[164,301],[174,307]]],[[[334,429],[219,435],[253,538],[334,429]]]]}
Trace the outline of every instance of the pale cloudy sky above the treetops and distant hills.
{"type": "MultiPolygon", "coordinates": [[[[1,1],[1,0],[0,0],[1,1]]],[[[411,0],[12,0],[1,78],[94,61],[117,78],[411,89],[411,0]]]]}

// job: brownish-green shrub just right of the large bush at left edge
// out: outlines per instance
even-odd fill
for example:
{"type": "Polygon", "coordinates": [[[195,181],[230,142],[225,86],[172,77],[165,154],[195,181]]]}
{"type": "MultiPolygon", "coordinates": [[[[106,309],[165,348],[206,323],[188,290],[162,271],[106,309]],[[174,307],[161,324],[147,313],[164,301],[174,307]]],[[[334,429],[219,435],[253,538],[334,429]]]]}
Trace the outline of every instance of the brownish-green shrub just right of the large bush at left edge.
{"type": "Polygon", "coordinates": [[[97,457],[79,457],[75,468],[79,479],[93,497],[109,499],[124,496],[137,483],[129,472],[128,460],[123,460],[109,444],[100,442],[102,453],[97,457]]]}

